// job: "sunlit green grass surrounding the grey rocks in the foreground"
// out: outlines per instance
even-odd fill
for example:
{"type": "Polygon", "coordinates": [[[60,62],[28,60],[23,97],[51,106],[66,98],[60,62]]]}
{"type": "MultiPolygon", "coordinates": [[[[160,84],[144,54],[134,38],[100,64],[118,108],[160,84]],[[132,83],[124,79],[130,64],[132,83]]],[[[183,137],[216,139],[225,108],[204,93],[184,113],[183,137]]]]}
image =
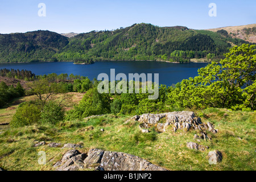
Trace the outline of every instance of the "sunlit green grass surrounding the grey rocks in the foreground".
{"type": "MultiPolygon", "coordinates": [[[[90,148],[120,151],[137,155],[170,170],[255,170],[256,113],[206,109],[200,111],[204,123],[211,122],[217,134],[208,133],[212,140],[201,140],[208,146],[205,151],[189,150],[187,142],[195,142],[198,131],[169,128],[157,133],[142,133],[137,121],[125,123],[132,116],[112,114],[76,121],[60,122],[56,125],[33,125],[7,129],[0,134],[0,167],[7,170],[52,170],[69,149],[46,146],[33,147],[36,141],[61,144],[82,144],[81,152],[90,148]],[[101,131],[104,129],[104,131],[101,131]],[[223,160],[216,165],[208,163],[208,152],[219,150],[223,160]],[[39,165],[39,151],[46,152],[46,165],[39,165]]],[[[198,142],[197,142],[198,143],[198,142]]]]}

